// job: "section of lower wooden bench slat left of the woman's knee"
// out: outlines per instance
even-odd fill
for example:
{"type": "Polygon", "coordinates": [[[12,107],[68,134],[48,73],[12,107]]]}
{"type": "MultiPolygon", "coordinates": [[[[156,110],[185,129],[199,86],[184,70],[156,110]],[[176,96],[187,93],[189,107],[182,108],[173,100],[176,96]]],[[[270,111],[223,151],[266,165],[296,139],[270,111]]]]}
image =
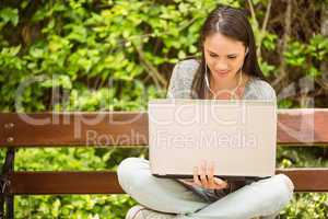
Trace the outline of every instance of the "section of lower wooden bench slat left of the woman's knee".
{"type": "Polygon", "coordinates": [[[92,172],[15,172],[12,193],[23,194],[121,194],[116,173],[92,172]]]}

